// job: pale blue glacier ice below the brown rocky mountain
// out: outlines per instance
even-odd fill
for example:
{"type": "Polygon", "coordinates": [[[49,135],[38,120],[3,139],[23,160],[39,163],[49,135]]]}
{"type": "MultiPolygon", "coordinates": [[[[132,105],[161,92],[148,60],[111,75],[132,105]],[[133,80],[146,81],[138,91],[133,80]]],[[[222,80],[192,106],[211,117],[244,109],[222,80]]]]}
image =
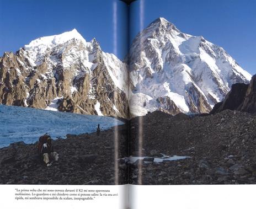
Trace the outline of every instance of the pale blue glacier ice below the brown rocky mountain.
{"type": "Polygon", "coordinates": [[[98,124],[106,130],[124,123],[106,116],[0,105],[0,147],[18,141],[34,143],[46,132],[52,138],[65,138],[67,133],[92,133],[97,130],[98,124]]]}

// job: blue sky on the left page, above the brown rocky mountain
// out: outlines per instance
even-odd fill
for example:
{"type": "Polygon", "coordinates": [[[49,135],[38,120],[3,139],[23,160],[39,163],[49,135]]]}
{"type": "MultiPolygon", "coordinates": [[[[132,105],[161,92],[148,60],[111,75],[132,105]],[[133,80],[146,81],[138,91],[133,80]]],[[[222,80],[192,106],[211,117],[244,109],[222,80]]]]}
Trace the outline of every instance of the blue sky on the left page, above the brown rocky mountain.
{"type": "Polygon", "coordinates": [[[118,0],[0,0],[0,56],[38,37],[76,28],[87,41],[95,37],[105,52],[123,58],[127,53],[127,12],[126,4],[118,0]]]}

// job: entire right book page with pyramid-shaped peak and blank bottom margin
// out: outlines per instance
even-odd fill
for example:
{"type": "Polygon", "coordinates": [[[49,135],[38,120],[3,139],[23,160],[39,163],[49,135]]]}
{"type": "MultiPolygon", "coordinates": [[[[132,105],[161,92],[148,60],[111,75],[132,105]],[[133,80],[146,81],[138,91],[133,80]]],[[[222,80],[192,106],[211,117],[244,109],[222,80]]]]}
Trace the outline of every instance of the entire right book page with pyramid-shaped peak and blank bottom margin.
{"type": "MultiPolygon", "coordinates": [[[[178,188],[179,195],[188,188],[192,199],[202,188],[212,200],[220,198],[216,188],[242,193],[236,186],[191,185],[255,184],[254,7],[252,1],[131,3],[134,208],[155,208],[155,197],[166,203],[168,195],[172,205],[180,200],[178,188]]],[[[252,202],[252,187],[244,188],[242,198],[252,202]]]]}

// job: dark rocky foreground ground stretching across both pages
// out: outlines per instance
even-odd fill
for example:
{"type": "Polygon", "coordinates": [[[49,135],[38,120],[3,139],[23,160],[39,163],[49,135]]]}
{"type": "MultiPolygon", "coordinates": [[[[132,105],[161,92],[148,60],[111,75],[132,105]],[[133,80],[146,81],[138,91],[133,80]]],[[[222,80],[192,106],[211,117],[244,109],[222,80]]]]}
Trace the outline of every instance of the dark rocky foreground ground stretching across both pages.
{"type": "Polygon", "coordinates": [[[160,111],[96,133],[54,141],[58,162],[46,167],[37,143],[0,149],[1,184],[256,184],[256,116],[225,110],[215,115],[171,116],[160,111]],[[139,130],[141,124],[141,131],[139,130]],[[118,129],[118,160],[115,130],[118,129]],[[138,135],[142,138],[139,150],[138,135]],[[127,162],[127,156],[145,159],[127,162]],[[189,158],[161,163],[167,156],[189,158]]]}

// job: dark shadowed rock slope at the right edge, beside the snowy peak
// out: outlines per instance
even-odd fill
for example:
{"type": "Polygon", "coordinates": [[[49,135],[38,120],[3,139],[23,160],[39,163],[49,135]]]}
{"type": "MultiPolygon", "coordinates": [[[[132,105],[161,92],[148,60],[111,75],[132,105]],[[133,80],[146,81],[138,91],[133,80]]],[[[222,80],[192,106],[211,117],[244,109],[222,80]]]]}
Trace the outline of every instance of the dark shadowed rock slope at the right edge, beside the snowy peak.
{"type": "Polygon", "coordinates": [[[226,98],[217,103],[210,113],[215,114],[223,110],[256,113],[256,75],[252,77],[249,84],[233,84],[226,98]]]}

